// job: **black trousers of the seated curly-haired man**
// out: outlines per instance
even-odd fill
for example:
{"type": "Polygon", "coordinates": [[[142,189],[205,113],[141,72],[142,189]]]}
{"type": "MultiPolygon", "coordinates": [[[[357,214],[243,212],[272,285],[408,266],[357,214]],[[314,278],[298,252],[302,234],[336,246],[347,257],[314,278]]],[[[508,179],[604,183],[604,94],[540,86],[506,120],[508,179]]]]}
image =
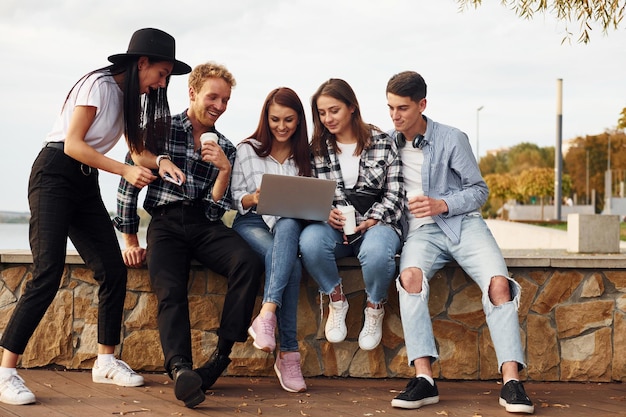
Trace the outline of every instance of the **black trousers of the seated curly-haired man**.
{"type": "Polygon", "coordinates": [[[264,265],[237,232],[209,221],[201,206],[173,203],[152,211],[147,244],[165,369],[176,356],[192,360],[187,291],[192,259],[228,280],[219,337],[247,339],[264,265]]]}

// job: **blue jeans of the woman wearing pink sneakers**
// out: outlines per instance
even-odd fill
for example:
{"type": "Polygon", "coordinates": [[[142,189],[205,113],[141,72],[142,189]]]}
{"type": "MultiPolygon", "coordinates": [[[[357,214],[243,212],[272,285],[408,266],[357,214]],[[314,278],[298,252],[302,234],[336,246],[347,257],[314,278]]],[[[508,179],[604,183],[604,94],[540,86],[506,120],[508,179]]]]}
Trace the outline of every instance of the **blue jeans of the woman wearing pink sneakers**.
{"type": "Polygon", "coordinates": [[[237,214],[233,229],[265,260],[263,303],[278,306],[278,337],[282,352],[298,350],[298,297],[302,264],[298,259],[298,239],[302,224],[297,219],[280,218],[269,230],[263,217],[249,212],[237,214]]]}

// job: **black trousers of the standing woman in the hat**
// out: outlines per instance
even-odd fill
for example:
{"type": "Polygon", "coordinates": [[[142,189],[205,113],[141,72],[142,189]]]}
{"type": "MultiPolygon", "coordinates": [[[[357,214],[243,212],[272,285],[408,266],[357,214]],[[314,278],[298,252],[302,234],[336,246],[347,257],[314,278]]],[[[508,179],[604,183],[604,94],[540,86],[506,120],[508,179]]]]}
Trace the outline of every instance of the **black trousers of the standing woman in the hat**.
{"type": "Polygon", "coordinates": [[[0,344],[24,353],[59,289],[68,236],[100,284],[98,343],[119,344],[127,270],[100,196],[98,171],[62,149],[44,147],[31,170],[28,203],[33,278],[26,283],[0,344]]]}

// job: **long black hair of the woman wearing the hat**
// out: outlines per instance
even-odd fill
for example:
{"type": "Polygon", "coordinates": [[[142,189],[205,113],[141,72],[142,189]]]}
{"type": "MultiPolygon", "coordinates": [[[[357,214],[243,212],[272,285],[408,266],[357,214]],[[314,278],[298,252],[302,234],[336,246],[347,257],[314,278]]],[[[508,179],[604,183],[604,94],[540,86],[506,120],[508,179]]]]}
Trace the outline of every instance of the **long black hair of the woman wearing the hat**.
{"type": "MultiPolygon", "coordinates": [[[[165,148],[170,135],[171,115],[167,101],[167,86],[170,76],[167,77],[165,88],[150,89],[148,94],[139,91],[139,57],[109,65],[85,74],[70,89],[65,104],[75,88],[81,88],[85,80],[93,74],[101,74],[98,78],[107,75],[124,74],[122,91],[124,93],[124,136],[128,149],[134,153],[141,153],[144,149],[159,154],[165,148]]],[[[150,63],[157,62],[148,57],[150,63]]]]}

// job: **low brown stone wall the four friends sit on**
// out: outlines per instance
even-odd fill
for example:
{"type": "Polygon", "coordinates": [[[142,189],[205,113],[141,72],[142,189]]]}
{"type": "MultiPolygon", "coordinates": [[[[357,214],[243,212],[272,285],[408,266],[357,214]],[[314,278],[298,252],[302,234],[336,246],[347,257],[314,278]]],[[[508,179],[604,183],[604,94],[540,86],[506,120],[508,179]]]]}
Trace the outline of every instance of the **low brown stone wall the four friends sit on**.
{"type": "MultiPolygon", "coordinates": [[[[523,291],[519,318],[528,364],[523,376],[536,381],[625,381],[626,257],[526,255],[506,256],[506,260],[523,291]]],[[[31,277],[32,265],[27,253],[4,253],[0,261],[3,331],[31,277]]],[[[325,341],[317,287],[308,277],[301,285],[298,336],[305,376],[412,376],[395,287],[389,289],[383,342],[371,352],[362,351],[357,342],[365,306],[360,270],[353,259],[340,262],[340,266],[350,302],[345,342],[325,341]]],[[[147,270],[131,269],[128,278],[121,357],[134,369],[162,371],[156,298],[150,291],[147,270]]],[[[217,343],[225,291],[223,277],[193,266],[189,298],[196,364],[204,363],[217,343]]],[[[458,266],[449,265],[431,281],[430,311],[440,353],[440,360],[435,362],[436,377],[499,377],[480,300],[478,287],[458,266]]],[[[96,352],[97,302],[92,272],[77,255],[68,256],[59,292],[20,366],[90,368],[96,352]]],[[[273,356],[255,349],[250,340],[235,345],[232,359],[227,371],[230,375],[273,375],[273,356]]]]}

